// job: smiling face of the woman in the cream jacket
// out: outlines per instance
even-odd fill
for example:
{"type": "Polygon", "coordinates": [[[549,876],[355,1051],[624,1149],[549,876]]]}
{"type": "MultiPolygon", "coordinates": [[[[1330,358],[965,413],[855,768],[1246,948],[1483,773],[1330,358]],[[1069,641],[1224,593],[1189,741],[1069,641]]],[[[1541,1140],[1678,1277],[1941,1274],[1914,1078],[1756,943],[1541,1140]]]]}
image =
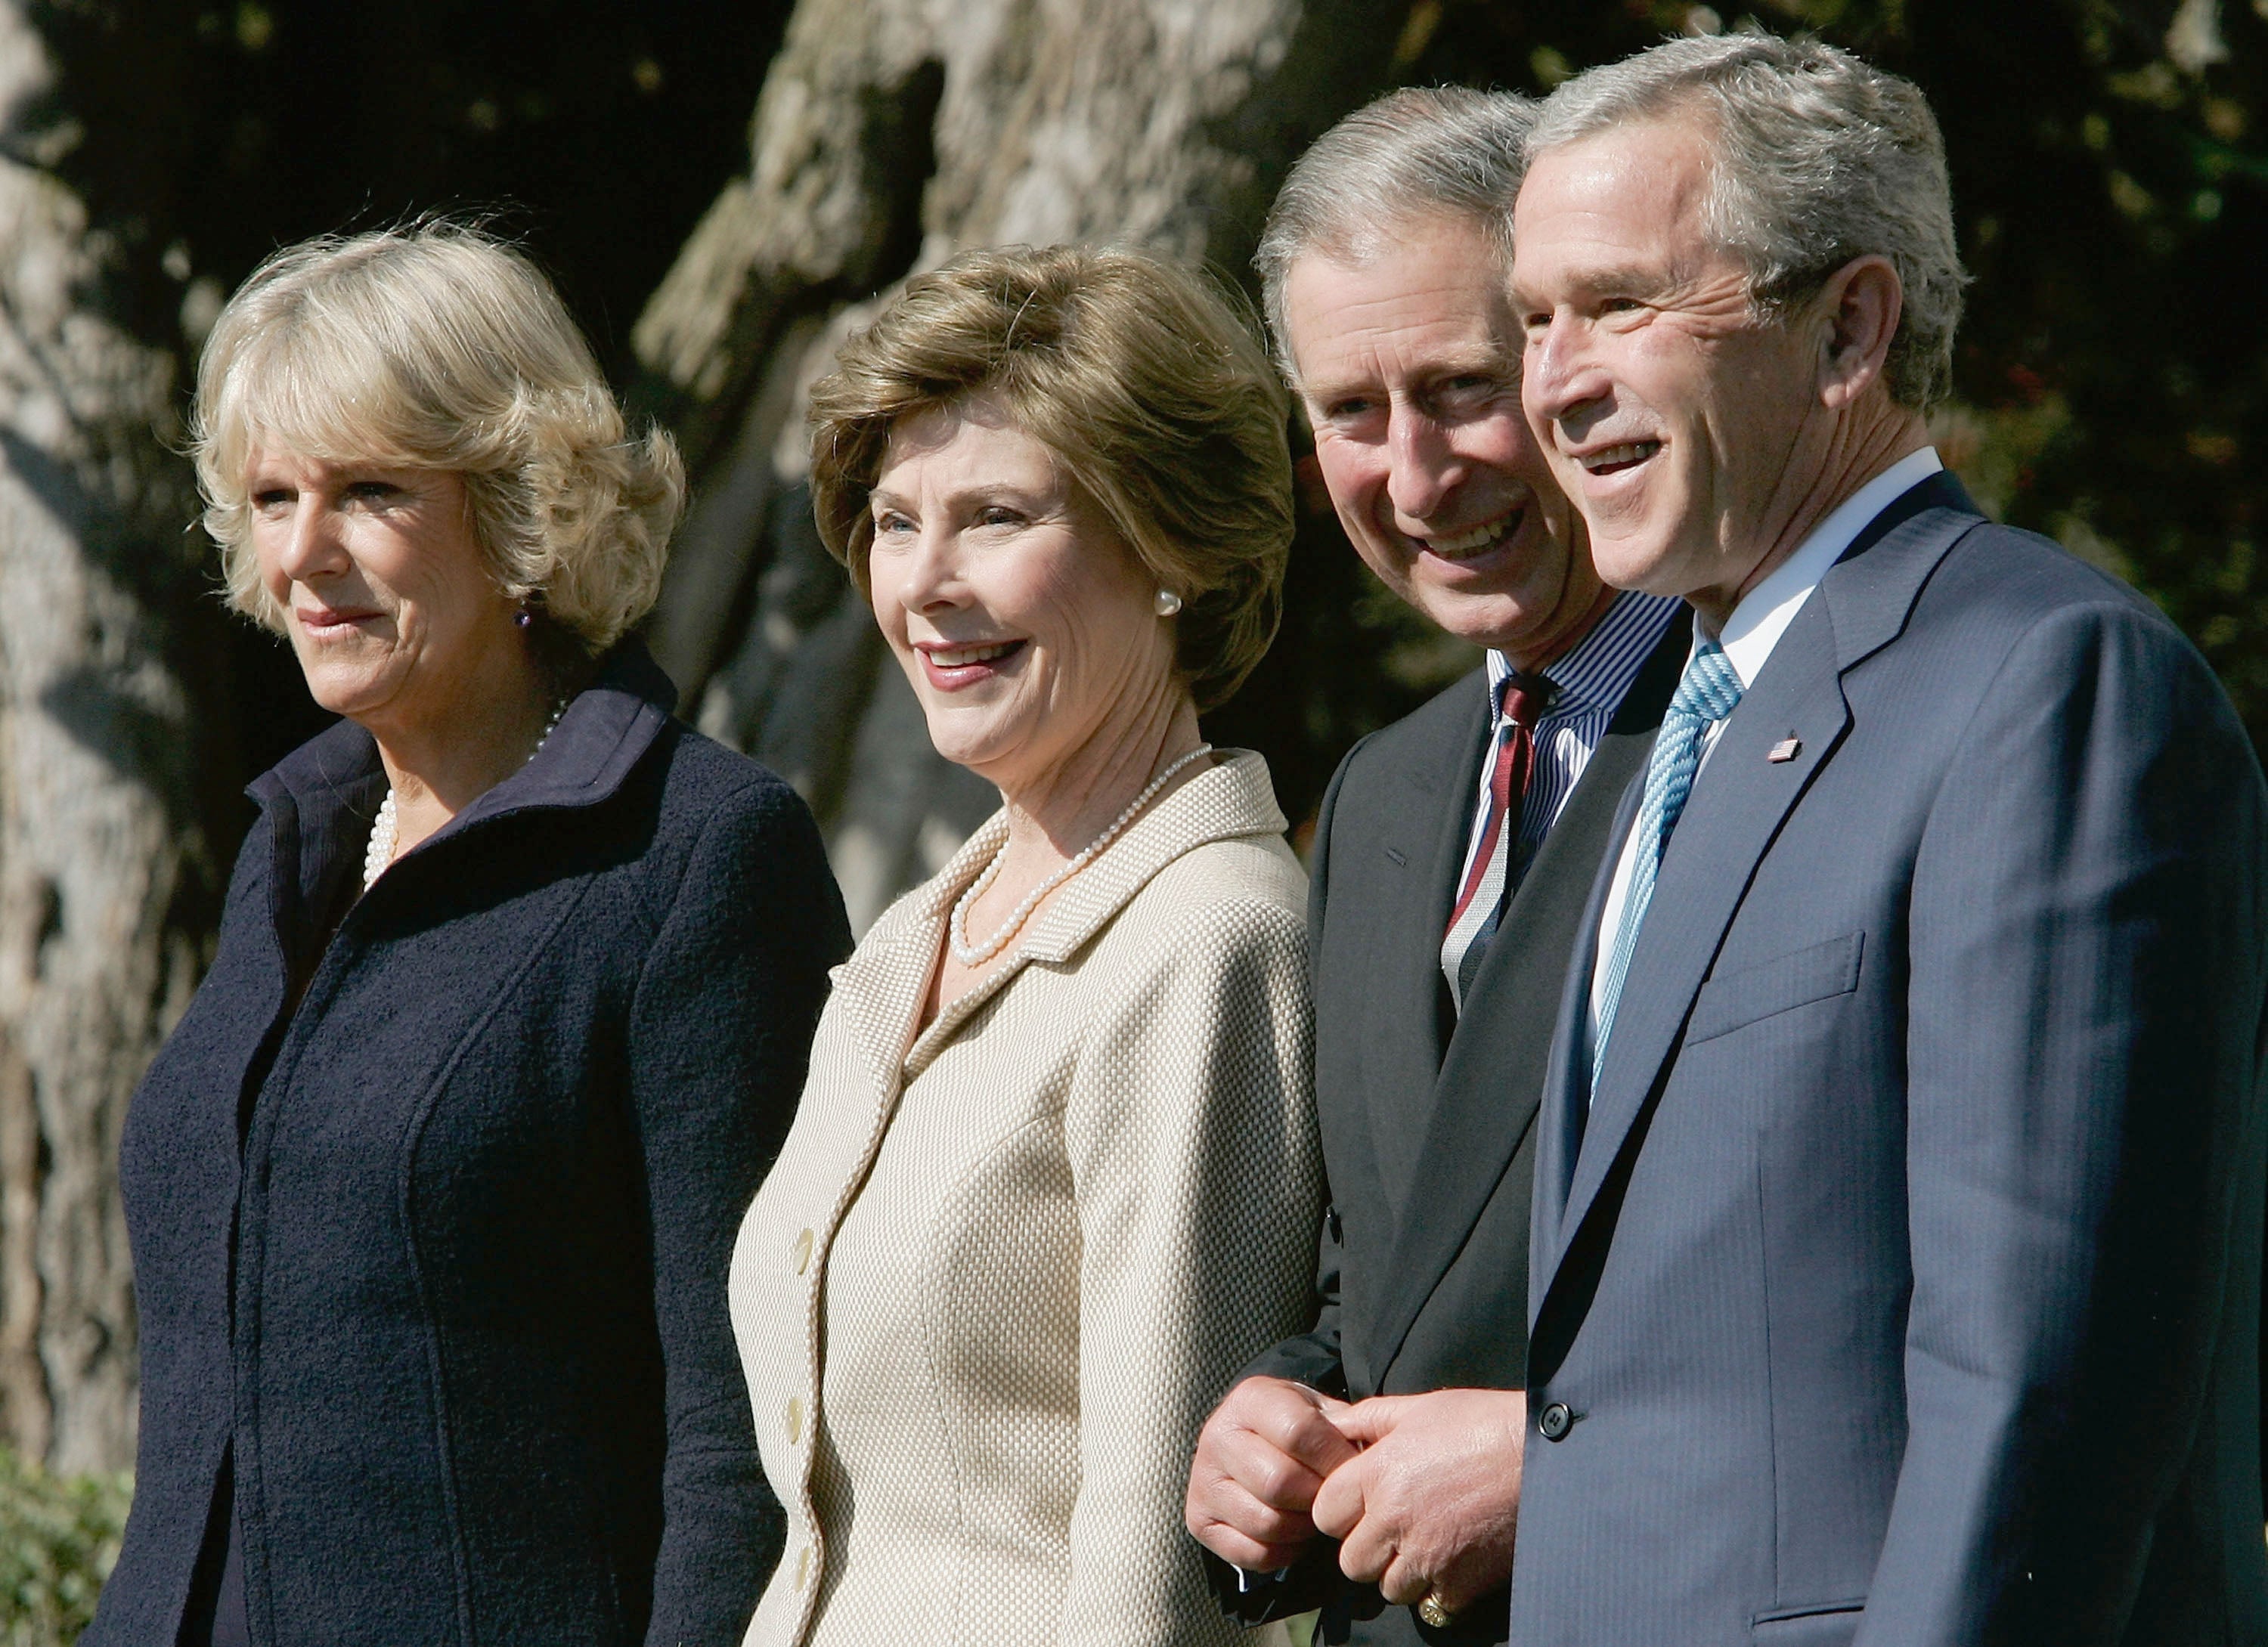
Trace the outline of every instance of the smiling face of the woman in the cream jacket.
{"type": "Polygon", "coordinates": [[[930,742],[1007,796],[1182,690],[1150,574],[1055,454],[987,402],[894,426],[869,508],[873,617],[930,742]]]}

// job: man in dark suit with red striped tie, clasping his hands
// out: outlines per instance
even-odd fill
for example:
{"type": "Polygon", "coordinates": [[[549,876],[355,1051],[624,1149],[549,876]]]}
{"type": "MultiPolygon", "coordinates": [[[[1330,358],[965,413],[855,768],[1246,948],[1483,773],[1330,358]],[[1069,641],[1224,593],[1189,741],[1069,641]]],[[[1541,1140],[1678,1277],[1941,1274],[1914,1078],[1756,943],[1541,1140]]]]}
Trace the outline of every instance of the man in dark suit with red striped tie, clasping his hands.
{"type": "Polygon", "coordinates": [[[1520,411],[1506,213],[1531,118],[1501,93],[1379,100],[1300,161],[1256,259],[1347,535],[1490,649],[1325,799],[1320,1314],[1247,1368],[1191,1470],[1191,1531],[1245,1568],[1218,1570],[1232,1608],[1322,1604],[1327,1642],[1504,1640],[1535,1096],[1685,656],[1676,601],[1599,583],[1520,411]]]}

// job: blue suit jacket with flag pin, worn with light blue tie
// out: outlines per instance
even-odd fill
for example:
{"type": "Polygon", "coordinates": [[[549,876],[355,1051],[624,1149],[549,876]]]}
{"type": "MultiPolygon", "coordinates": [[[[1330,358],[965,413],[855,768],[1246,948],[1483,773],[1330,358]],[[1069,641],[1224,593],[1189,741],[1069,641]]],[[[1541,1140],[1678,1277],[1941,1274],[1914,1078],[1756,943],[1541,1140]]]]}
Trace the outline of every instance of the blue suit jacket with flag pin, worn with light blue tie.
{"type": "Polygon", "coordinates": [[[2263,808],[2127,588],[1950,476],[1862,533],[1694,785],[1594,1096],[1588,960],[1563,998],[1513,1640],[2268,1638],[2263,808]]]}

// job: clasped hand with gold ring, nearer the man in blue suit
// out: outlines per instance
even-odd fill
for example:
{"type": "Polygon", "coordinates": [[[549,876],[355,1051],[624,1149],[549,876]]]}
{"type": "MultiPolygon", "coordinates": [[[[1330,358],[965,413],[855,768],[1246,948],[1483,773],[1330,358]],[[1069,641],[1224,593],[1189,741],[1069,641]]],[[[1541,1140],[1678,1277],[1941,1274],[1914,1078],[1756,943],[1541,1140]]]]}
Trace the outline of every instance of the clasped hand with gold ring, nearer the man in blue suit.
{"type": "Polygon", "coordinates": [[[1404,1606],[1433,1595],[1456,1613],[1513,1577],[1522,1391],[1372,1395],[1331,1425],[1363,1452],[1331,1472],[1311,1513],[1340,1540],[1349,1579],[1404,1606]]]}

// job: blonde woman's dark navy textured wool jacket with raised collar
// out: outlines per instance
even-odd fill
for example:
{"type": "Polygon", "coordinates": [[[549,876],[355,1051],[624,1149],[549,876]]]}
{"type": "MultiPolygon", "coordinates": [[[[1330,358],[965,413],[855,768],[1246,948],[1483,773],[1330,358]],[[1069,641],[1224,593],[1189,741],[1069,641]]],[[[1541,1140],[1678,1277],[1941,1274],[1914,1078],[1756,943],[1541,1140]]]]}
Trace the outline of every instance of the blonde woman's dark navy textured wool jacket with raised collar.
{"type": "Polygon", "coordinates": [[[674,696],[617,649],[329,944],[376,746],[252,787],[125,1125],[141,1456],[88,1647],[175,1640],[231,1456],[261,1647],[739,1640],[780,1522],[723,1275],[850,941],[810,812],[674,696]]]}

